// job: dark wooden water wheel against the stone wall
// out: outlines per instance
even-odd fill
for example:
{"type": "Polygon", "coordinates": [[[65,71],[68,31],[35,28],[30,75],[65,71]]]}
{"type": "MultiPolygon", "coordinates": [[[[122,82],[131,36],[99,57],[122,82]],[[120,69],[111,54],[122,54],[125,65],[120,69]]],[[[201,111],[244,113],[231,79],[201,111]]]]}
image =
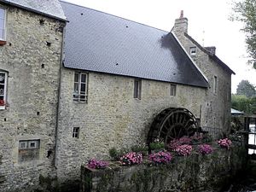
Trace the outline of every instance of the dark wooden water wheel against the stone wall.
{"type": "Polygon", "coordinates": [[[150,126],[148,144],[160,139],[166,145],[173,139],[194,135],[198,128],[194,114],[188,109],[166,108],[154,118],[150,126]]]}

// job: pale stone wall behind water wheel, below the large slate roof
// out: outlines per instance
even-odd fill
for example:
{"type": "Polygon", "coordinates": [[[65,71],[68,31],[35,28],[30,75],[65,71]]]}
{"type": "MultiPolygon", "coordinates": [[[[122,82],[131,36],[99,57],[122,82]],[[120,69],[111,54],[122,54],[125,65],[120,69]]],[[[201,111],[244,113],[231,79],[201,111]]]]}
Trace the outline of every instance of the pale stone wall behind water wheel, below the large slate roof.
{"type": "Polygon", "coordinates": [[[141,100],[133,98],[134,78],[89,73],[88,103],[73,102],[75,70],[61,69],[61,100],[57,137],[57,167],[62,180],[78,179],[81,164],[93,157],[108,159],[109,148],[129,148],[146,142],[154,117],[165,108],[187,108],[200,117],[207,89],[142,80],[141,100]],[[73,138],[79,127],[79,138],[73,138]]]}

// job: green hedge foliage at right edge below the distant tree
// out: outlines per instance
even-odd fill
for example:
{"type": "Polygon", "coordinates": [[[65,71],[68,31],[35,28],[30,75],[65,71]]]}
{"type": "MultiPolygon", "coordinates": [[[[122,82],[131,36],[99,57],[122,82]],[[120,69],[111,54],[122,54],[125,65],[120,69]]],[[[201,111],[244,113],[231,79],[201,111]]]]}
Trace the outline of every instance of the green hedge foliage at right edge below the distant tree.
{"type": "Polygon", "coordinates": [[[256,97],[234,95],[231,96],[231,107],[247,114],[256,113],[256,97]]]}

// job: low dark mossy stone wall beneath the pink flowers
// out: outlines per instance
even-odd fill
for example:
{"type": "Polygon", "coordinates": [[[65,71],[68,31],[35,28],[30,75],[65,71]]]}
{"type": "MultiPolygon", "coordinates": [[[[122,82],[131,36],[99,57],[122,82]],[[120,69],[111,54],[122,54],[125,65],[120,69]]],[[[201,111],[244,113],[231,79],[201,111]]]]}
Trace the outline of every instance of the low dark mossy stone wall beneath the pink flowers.
{"type": "Polygon", "coordinates": [[[212,154],[175,156],[168,165],[114,166],[105,170],[81,167],[80,192],[216,192],[246,165],[243,147],[212,154]]]}

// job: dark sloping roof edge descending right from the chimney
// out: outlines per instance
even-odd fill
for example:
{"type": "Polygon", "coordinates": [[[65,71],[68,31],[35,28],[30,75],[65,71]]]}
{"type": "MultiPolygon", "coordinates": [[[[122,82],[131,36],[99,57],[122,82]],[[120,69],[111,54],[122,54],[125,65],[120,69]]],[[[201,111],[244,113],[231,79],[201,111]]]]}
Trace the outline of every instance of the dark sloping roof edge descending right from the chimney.
{"type": "Polygon", "coordinates": [[[195,44],[199,49],[201,49],[201,51],[205,52],[207,55],[209,55],[209,57],[213,60],[218,62],[218,64],[224,68],[224,70],[226,70],[227,72],[231,73],[231,74],[236,74],[232,69],[230,69],[230,67],[228,67],[224,61],[221,61],[217,55],[213,54],[212,52],[208,51],[207,49],[205,49],[204,47],[201,46],[201,44],[199,44],[197,41],[195,41],[194,38],[192,38],[191,36],[189,36],[188,33],[184,32],[184,36],[186,38],[189,38],[190,41],[193,42],[193,44],[195,44]]]}

